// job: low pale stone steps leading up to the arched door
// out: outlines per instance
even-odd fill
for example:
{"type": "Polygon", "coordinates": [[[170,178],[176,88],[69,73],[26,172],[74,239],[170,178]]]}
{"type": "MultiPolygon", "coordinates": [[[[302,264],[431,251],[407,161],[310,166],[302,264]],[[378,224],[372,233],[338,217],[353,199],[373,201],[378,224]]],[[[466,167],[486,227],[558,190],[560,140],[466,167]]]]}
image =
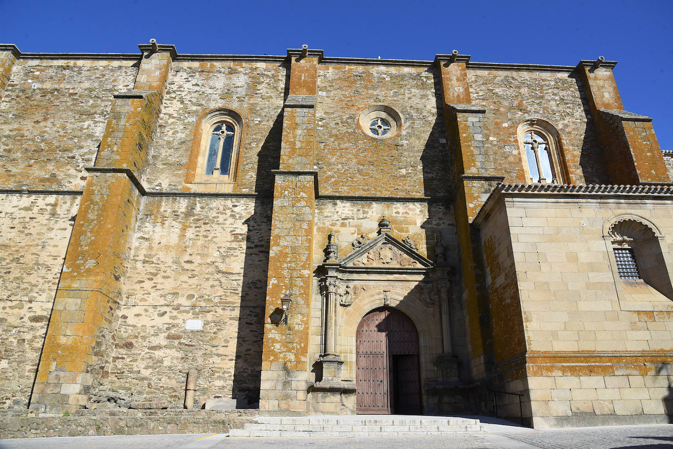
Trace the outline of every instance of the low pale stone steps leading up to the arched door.
{"type": "Polygon", "coordinates": [[[401,435],[456,435],[484,431],[479,419],[445,416],[320,415],[258,417],[243,429],[229,430],[231,437],[361,437],[401,435]]]}

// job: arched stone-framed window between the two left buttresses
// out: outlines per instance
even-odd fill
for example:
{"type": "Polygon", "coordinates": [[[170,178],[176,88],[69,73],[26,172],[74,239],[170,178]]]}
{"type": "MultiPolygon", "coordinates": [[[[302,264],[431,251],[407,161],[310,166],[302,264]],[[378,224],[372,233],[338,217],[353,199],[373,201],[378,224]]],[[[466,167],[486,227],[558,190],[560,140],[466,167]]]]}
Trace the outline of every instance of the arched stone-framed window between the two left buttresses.
{"type": "Polygon", "coordinates": [[[242,120],[236,112],[217,109],[201,120],[199,158],[194,182],[231,183],[236,178],[242,120]]]}

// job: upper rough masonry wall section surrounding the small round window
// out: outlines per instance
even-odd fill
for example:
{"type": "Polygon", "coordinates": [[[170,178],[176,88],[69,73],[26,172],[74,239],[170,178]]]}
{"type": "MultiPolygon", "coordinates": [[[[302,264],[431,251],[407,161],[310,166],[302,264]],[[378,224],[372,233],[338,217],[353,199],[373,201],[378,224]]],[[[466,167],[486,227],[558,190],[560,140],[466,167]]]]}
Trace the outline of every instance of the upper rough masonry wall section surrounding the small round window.
{"type": "Polygon", "coordinates": [[[315,164],[320,193],[447,195],[438,77],[428,67],[318,66],[315,164]],[[402,115],[399,135],[376,139],[359,130],[359,113],[372,104],[402,115]]]}

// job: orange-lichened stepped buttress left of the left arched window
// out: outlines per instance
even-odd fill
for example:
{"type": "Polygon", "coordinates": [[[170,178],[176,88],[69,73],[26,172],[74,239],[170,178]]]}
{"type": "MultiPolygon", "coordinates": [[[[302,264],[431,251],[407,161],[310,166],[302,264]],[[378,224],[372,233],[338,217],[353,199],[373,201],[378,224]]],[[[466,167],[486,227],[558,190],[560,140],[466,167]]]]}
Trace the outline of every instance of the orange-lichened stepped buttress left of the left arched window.
{"type": "Polygon", "coordinates": [[[114,96],[96,166],[87,168],[31,409],[61,413],[86,405],[110,369],[124,261],[142,194],[137,176],[147,164],[165,90],[163,73],[168,74],[172,60],[170,49],[161,47],[174,52],[172,46],[160,46],[151,55],[143,52],[134,90],[114,96]],[[157,71],[160,75],[150,74],[157,71]]]}

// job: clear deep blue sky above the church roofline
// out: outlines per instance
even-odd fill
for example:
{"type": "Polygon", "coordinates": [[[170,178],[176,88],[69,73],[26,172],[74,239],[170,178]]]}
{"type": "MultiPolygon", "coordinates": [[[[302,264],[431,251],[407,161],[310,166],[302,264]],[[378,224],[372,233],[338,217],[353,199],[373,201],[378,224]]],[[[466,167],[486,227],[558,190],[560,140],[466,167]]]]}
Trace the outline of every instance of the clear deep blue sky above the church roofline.
{"type": "Polygon", "coordinates": [[[433,59],[575,65],[599,55],[625,108],[654,118],[673,150],[673,0],[657,1],[15,1],[0,0],[0,42],[24,52],[178,53],[433,59]]]}

